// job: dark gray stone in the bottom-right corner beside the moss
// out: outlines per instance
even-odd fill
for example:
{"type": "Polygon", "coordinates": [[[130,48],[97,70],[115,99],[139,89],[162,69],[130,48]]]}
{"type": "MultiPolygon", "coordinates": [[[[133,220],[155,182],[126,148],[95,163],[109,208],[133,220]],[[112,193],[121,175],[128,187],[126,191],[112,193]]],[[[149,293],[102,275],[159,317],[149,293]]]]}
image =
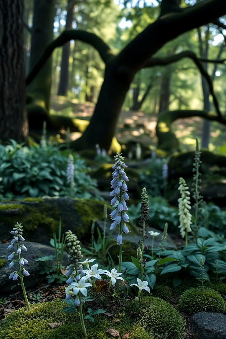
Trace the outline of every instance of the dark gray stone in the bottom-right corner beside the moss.
{"type": "Polygon", "coordinates": [[[226,339],[226,316],[217,312],[198,312],[190,318],[198,339],[226,339]]]}

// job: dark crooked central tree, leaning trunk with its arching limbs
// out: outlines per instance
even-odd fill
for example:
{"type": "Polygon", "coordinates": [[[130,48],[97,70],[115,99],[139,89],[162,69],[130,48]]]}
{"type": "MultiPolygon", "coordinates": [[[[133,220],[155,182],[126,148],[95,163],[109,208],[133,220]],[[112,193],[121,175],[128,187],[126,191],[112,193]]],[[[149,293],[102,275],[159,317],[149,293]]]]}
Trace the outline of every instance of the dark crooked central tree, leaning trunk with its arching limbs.
{"type": "MultiPolygon", "coordinates": [[[[112,54],[109,47],[100,38],[83,31],[67,31],[46,48],[38,64],[28,76],[28,82],[38,73],[54,48],[70,39],[79,39],[93,45],[106,64],[105,77],[94,114],[82,137],[71,143],[75,149],[94,148],[97,143],[101,148],[108,149],[115,134],[125,95],[139,69],[144,67],[148,60],[153,65],[153,61],[156,62],[153,55],[166,42],[193,28],[206,25],[226,13],[226,2],[222,2],[222,0],[205,0],[191,7],[175,9],[179,2],[179,0],[162,0],[161,14],[163,15],[148,25],[117,56],[112,54]],[[150,41],[151,43],[148,43],[150,41]]],[[[194,57],[193,60],[200,69],[203,68],[199,64],[198,58],[194,57]]],[[[209,86],[211,90],[211,81],[209,86]]],[[[216,101],[214,104],[217,110],[218,103],[214,92],[212,97],[213,101],[216,101]]],[[[221,116],[220,110],[218,115],[221,116]]]]}

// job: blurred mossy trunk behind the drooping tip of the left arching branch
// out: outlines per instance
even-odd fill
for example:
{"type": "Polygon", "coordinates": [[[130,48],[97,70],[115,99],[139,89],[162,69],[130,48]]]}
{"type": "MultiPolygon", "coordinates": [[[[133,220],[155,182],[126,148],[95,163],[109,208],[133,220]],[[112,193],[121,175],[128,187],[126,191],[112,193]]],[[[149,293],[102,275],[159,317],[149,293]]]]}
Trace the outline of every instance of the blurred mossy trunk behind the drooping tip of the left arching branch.
{"type": "MultiPolygon", "coordinates": [[[[53,23],[55,16],[55,0],[35,0],[32,26],[32,41],[30,49],[31,70],[46,46],[53,40],[53,23]]],[[[46,62],[41,71],[28,86],[29,112],[45,114],[49,109],[52,84],[52,58],[46,62]]]]}

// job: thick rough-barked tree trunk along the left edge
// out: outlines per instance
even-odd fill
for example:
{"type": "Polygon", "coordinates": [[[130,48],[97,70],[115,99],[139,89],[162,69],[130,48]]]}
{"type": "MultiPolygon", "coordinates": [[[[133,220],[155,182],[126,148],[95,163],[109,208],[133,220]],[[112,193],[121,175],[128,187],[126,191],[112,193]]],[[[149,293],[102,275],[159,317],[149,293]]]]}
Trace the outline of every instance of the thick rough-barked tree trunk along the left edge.
{"type": "Polygon", "coordinates": [[[23,0],[0,1],[0,139],[24,141],[25,112],[23,0]]]}

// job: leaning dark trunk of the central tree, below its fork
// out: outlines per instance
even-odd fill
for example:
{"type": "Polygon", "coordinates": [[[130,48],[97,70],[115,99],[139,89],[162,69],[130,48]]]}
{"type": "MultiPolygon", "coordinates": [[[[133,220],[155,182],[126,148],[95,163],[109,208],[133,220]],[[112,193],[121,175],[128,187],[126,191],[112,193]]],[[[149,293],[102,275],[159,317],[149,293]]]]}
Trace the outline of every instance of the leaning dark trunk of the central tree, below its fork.
{"type": "Polygon", "coordinates": [[[117,62],[106,66],[94,114],[81,138],[72,142],[75,149],[94,148],[95,143],[101,148],[109,149],[134,73],[127,72],[117,62]]]}

